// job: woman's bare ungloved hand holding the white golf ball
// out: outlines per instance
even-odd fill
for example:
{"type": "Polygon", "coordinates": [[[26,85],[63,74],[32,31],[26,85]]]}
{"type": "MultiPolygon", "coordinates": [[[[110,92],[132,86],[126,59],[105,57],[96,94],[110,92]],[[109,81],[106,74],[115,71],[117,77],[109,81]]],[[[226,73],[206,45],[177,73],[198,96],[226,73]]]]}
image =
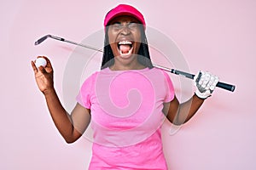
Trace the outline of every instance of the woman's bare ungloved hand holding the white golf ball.
{"type": "Polygon", "coordinates": [[[38,56],[38,58],[44,58],[47,61],[46,66],[37,66],[34,61],[31,61],[33,71],[35,73],[35,79],[38,84],[38,88],[43,94],[46,94],[54,90],[54,81],[53,81],[53,68],[50,64],[50,61],[45,56],[38,56]]]}

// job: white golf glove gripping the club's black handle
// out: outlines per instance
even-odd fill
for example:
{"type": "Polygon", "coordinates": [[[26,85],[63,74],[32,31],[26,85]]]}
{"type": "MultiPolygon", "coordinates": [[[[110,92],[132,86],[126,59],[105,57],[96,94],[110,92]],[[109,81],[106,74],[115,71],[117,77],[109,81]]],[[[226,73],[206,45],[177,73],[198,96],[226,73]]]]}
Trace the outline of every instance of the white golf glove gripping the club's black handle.
{"type": "Polygon", "coordinates": [[[201,99],[207,99],[212,95],[218,83],[218,77],[207,71],[199,71],[195,77],[195,94],[201,99]]]}

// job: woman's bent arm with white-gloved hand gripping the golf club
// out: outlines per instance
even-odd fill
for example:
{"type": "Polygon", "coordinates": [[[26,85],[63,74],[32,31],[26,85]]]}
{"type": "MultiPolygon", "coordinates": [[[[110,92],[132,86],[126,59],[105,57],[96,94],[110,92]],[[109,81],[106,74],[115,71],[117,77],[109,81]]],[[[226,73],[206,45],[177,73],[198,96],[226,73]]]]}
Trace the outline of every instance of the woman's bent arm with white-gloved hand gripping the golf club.
{"type": "Polygon", "coordinates": [[[194,81],[196,91],[191,99],[179,104],[177,98],[174,96],[174,99],[170,103],[164,104],[163,111],[167,119],[173,124],[181,125],[195,116],[196,111],[199,110],[204,100],[212,95],[218,83],[218,77],[209,72],[199,71],[194,81]]]}

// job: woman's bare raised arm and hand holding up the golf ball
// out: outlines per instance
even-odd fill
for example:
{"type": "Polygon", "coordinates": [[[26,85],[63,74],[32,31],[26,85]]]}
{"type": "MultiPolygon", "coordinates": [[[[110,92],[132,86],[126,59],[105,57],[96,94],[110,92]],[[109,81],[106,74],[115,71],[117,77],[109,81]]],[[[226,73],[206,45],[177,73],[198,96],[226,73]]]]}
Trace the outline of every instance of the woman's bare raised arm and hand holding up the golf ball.
{"type": "Polygon", "coordinates": [[[53,83],[53,68],[47,60],[45,68],[43,66],[36,67],[32,61],[32,68],[35,73],[36,82],[39,90],[44,94],[50,116],[55,126],[61,133],[67,143],[73,143],[84,133],[86,127],[90,123],[90,110],[85,109],[82,105],[77,104],[71,116],[61,105],[53,83]]]}

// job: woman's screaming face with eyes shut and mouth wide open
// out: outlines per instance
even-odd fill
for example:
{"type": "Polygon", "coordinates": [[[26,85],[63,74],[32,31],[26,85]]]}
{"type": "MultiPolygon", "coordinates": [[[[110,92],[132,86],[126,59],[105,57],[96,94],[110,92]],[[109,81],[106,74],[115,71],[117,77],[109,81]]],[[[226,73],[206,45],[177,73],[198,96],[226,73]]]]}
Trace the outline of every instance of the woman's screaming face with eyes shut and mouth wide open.
{"type": "Polygon", "coordinates": [[[114,55],[114,63],[131,65],[137,62],[141,43],[139,21],[131,16],[119,16],[111,20],[108,39],[114,55]]]}

